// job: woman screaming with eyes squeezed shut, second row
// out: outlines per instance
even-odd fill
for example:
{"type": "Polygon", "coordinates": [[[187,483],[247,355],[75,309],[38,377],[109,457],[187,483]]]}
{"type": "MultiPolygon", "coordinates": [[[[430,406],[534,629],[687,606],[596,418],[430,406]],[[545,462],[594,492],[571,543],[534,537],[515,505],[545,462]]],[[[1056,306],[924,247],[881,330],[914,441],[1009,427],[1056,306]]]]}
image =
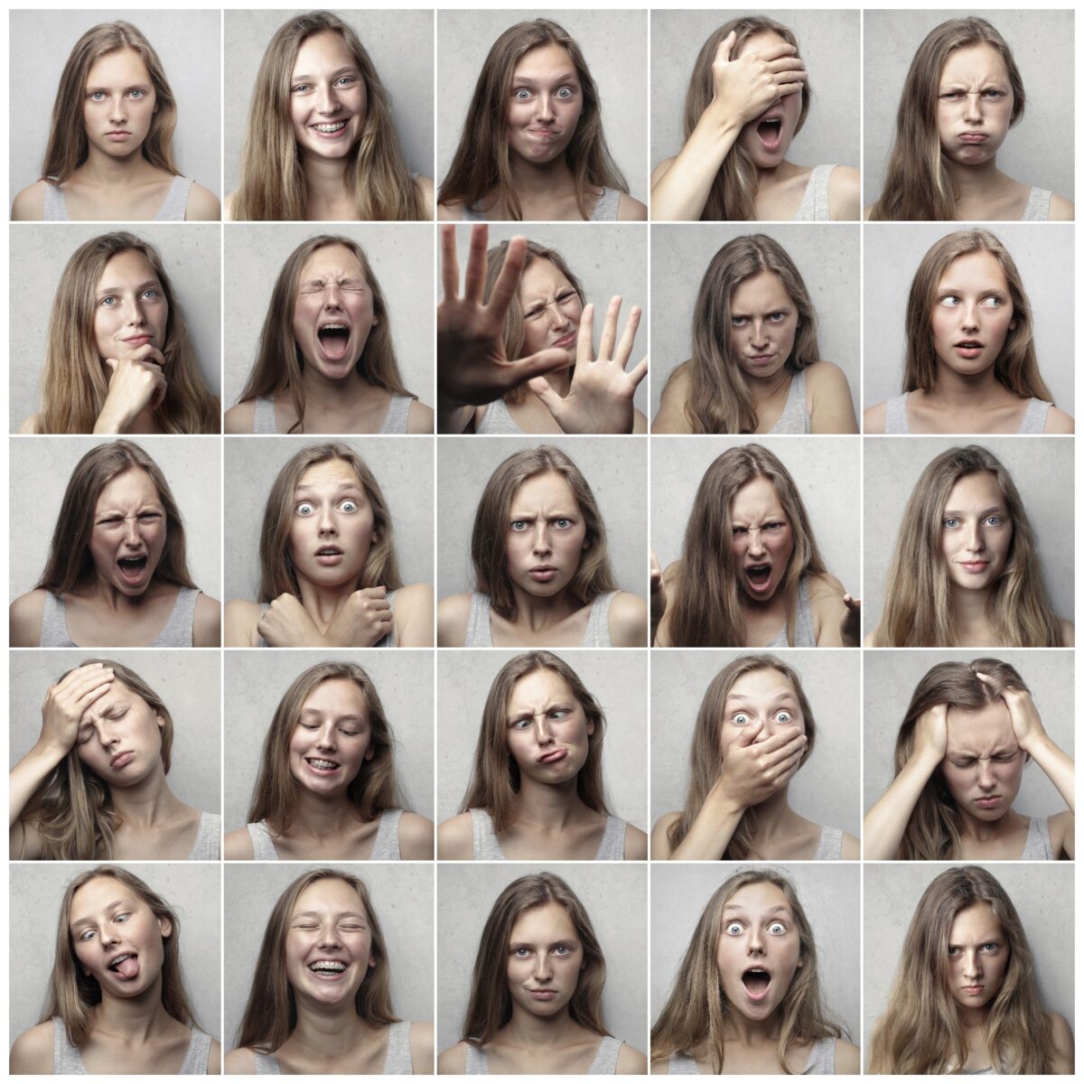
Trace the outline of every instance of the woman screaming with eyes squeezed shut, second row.
{"type": "Polygon", "coordinates": [[[291,253],[227,433],[433,433],[404,387],[365,250],[321,234],[291,253]]]}

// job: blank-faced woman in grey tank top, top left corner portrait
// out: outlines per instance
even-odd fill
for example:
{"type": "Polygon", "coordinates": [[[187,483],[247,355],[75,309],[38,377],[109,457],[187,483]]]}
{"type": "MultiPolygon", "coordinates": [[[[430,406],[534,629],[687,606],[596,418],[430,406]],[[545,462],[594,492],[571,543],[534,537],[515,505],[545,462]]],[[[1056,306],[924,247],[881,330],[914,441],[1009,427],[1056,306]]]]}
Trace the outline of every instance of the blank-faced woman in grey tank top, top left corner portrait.
{"type": "Polygon", "coordinates": [[[212,221],[218,197],[173,160],[177,103],[151,42],[131,23],[92,26],[72,50],[53,102],[41,179],[14,221],[212,221]]]}

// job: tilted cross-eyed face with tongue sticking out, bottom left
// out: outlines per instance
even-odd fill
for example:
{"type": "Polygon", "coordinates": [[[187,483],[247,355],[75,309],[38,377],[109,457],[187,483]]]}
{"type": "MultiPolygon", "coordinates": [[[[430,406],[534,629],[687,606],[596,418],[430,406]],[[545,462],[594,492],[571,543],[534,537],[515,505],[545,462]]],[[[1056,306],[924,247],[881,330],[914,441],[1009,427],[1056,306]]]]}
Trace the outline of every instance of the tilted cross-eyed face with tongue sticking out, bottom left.
{"type": "Polygon", "coordinates": [[[172,933],[124,881],[95,877],[72,896],[68,932],[78,967],[103,994],[136,997],[162,975],[163,939],[172,933]]]}

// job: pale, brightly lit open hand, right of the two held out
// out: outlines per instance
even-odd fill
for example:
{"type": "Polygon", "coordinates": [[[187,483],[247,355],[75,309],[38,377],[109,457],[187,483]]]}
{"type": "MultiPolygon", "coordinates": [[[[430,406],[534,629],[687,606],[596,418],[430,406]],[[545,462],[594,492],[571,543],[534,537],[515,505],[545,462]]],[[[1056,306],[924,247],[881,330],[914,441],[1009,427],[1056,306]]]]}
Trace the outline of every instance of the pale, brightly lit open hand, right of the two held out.
{"type": "Polygon", "coordinates": [[[629,313],[624,334],[614,352],[620,311],[621,298],[615,297],[606,310],[598,358],[592,359],[595,307],[588,305],[584,308],[576,341],[572,385],[564,399],[544,376],[535,376],[528,385],[565,433],[632,433],[632,397],[636,385],[647,375],[647,359],[644,358],[631,373],[624,371],[640,326],[642,310],[638,308],[629,313]]]}

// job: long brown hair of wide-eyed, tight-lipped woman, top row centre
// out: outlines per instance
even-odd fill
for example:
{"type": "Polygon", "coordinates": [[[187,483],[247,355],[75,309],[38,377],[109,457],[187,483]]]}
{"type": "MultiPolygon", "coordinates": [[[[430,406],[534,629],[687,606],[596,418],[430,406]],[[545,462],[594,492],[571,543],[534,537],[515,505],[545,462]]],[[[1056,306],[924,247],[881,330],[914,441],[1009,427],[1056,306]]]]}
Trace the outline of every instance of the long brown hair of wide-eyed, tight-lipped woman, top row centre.
{"type": "Polygon", "coordinates": [[[559,46],[576,66],[583,91],[583,109],[565,160],[576,182],[576,206],[580,218],[591,218],[588,199],[599,189],[628,192],[629,185],[610,155],[603,134],[602,99],[576,39],[550,18],[509,26],[493,42],[482,64],[474,96],[460,133],[460,143],[440,185],[439,203],[475,207],[487,197],[507,209],[515,221],[522,219],[508,151],[508,100],[516,65],[532,49],[559,46]]]}

